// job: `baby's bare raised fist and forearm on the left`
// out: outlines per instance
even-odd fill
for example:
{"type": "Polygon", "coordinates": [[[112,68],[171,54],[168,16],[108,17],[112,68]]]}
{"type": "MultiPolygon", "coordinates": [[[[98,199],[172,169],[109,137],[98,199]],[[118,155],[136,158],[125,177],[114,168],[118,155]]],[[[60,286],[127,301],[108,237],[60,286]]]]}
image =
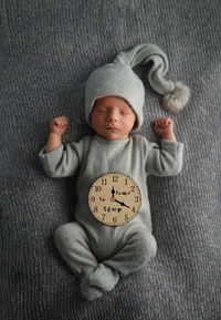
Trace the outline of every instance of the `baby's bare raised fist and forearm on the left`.
{"type": "Polygon", "coordinates": [[[44,152],[49,153],[62,144],[62,135],[67,130],[69,120],[66,116],[54,117],[50,124],[50,135],[44,152]]]}

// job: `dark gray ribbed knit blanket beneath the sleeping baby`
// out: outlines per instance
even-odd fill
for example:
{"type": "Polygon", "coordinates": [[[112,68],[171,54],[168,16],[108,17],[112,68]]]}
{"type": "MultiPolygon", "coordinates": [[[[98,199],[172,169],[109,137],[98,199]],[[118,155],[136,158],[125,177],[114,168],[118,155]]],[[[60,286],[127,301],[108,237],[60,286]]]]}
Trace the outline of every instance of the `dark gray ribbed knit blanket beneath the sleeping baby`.
{"type": "MultiPolygon", "coordinates": [[[[0,320],[221,319],[220,16],[219,0],[0,1],[0,320]],[[74,219],[75,178],[45,176],[38,153],[54,116],[70,118],[64,142],[91,133],[90,73],[149,42],[192,90],[172,116],[183,169],[148,180],[156,258],[88,302],[53,240],[74,219]]],[[[156,141],[167,113],[146,91],[140,134],[156,141]]]]}

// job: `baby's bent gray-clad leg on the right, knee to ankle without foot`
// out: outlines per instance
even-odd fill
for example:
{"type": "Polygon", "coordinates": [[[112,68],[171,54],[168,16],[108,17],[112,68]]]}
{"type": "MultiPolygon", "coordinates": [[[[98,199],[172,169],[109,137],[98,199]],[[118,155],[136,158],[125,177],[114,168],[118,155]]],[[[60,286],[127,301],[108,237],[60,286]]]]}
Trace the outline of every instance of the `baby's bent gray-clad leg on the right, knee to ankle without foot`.
{"type": "Polygon", "coordinates": [[[136,226],[127,229],[122,249],[103,264],[125,277],[141,268],[155,257],[156,251],[157,244],[152,235],[143,226],[136,226]]]}

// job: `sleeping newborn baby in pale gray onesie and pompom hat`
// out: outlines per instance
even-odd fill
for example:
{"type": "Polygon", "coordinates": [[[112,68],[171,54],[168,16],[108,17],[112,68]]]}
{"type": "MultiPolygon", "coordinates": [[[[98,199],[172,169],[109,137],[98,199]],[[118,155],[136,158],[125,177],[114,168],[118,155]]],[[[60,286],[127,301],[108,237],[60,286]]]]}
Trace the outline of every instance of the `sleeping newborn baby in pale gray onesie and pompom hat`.
{"type": "Polygon", "coordinates": [[[183,144],[176,141],[170,117],[155,121],[160,144],[136,134],[144,121],[145,87],[133,68],[149,62],[150,86],[164,95],[162,106],[168,112],[179,112],[189,100],[189,87],[165,79],[168,61],[158,47],[140,44],[120,52],[113,63],[95,70],[87,80],[85,118],[95,134],[64,145],[62,135],[69,120],[55,117],[39,155],[51,177],[78,174],[75,219],[59,226],[54,239],[61,256],[80,279],[81,293],[87,300],[110,291],[120,277],[155,257],[157,244],[151,231],[147,178],[177,175],[182,167],[183,144]],[[103,177],[108,174],[107,195],[107,179],[103,177]],[[125,185],[128,179],[134,183],[128,193],[120,192],[119,177],[125,185]],[[97,180],[101,186],[94,188],[97,180]],[[135,187],[139,197],[133,195],[135,187]],[[139,206],[130,205],[133,202],[139,206]],[[105,219],[110,210],[115,213],[109,223],[105,219]],[[123,220],[117,224],[120,214],[123,220]]]}

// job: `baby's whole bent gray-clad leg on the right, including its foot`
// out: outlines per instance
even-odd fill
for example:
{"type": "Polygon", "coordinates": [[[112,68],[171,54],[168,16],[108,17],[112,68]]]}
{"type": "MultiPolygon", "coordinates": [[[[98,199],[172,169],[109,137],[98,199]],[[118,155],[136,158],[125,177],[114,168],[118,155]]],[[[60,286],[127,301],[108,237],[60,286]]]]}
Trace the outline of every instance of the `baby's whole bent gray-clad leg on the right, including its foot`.
{"type": "Polygon", "coordinates": [[[122,239],[122,248],[101,262],[85,279],[87,286],[109,291],[117,283],[119,276],[124,277],[138,270],[156,255],[156,240],[143,226],[128,227],[122,239]]]}

